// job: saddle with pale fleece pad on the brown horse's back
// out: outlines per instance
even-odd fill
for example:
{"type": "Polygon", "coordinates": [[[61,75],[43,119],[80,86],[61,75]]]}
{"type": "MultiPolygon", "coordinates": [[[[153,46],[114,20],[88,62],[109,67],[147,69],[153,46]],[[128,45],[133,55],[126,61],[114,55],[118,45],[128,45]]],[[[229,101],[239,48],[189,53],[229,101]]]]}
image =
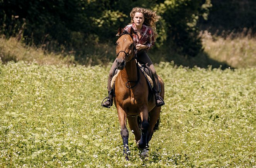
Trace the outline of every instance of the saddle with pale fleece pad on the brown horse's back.
{"type": "MultiPolygon", "coordinates": [[[[147,66],[147,64],[140,64],[139,65],[139,69],[141,70],[142,74],[144,75],[144,77],[147,80],[147,85],[149,86],[149,90],[153,93],[153,80],[154,80],[154,75],[153,72],[151,71],[151,69],[149,68],[149,66],[147,66]]],[[[115,90],[115,80],[117,78],[117,75],[119,74],[120,70],[118,70],[116,67],[114,69],[113,72],[113,78],[111,81],[111,88],[113,90],[115,90]]]]}

